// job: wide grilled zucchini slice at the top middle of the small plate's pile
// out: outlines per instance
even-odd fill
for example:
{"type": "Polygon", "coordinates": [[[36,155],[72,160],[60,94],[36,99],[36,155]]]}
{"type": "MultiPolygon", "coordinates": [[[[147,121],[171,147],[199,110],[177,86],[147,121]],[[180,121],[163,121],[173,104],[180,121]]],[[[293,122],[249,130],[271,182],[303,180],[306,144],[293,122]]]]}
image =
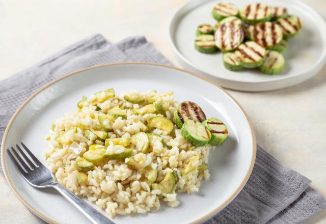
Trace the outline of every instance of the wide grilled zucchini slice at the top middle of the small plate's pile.
{"type": "Polygon", "coordinates": [[[252,3],[241,9],[240,18],[251,25],[266,22],[271,19],[271,9],[261,3],[252,3]]]}

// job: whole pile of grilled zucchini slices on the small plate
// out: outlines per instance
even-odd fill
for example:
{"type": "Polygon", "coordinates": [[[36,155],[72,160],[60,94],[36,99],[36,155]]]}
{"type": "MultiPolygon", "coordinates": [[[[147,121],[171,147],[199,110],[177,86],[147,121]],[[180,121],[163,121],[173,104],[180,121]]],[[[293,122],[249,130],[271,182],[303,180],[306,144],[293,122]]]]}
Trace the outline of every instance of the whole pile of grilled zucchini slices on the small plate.
{"type": "Polygon", "coordinates": [[[212,16],[217,21],[214,26],[198,26],[195,48],[202,53],[221,50],[223,64],[231,71],[258,68],[265,74],[281,73],[285,66],[282,52],[302,27],[300,18],[289,15],[286,8],[260,3],[240,11],[234,4],[219,3],[212,16]]]}

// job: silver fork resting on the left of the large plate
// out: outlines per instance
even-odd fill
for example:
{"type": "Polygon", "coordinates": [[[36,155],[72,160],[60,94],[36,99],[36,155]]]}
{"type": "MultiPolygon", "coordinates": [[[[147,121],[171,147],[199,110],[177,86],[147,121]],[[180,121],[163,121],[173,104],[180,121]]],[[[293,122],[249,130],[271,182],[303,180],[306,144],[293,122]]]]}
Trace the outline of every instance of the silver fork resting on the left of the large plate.
{"type": "Polygon", "coordinates": [[[16,148],[20,152],[21,156],[18,155],[17,151],[13,147],[11,147],[11,150],[15,154],[16,158],[13,156],[9,149],[7,149],[7,152],[13,163],[16,165],[17,169],[20,171],[24,179],[29,184],[31,184],[33,187],[38,188],[55,188],[69,202],[76,206],[79,211],[86,215],[86,217],[88,217],[93,223],[114,223],[110,219],[106,218],[104,215],[96,211],[86,202],[79,199],[71,191],[69,191],[59,183],[56,183],[55,179],[53,179],[51,175],[51,172],[46,169],[46,167],[33,155],[33,153],[31,153],[31,151],[23,143],[21,143],[21,145],[25,149],[25,152],[29,154],[29,156],[34,162],[32,162],[31,159],[26,156],[26,154],[18,145],[16,145],[16,148]]]}

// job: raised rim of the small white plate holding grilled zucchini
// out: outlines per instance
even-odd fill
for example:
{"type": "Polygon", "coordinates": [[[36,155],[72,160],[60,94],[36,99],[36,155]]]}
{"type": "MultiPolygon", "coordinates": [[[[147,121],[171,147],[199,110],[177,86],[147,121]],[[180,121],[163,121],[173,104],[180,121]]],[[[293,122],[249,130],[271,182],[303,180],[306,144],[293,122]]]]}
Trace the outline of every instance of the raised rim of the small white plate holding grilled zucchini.
{"type": "MultiPolygon", "coordinates": [[[[214,76],[211,75],[205,71],[203,71],[202,69],[200,69],[197,65],[195,65],[194,63],[190,62],[188,59],[186,59],[184,57],[184,55],[179,51],[179,49],[176,46],[174,37],[173,37],[173,32],[172,30],[172,24],[173,23],[177,23],[177,16],[183,17],[185,14],[187,14],[189,11],[191,11],[194,8],[197,8],[199,6],[201,6],[204,3],[207,3],[209,1],[212,0],[191,0],[188,1],[187,3],[185,3],[183,6],[181,6],[181,8],[179,8],[171,17],[170,22],[169,22],[169,27],[168,27],[168,35],[169,35],[169,43],[170,46],[172,47],[172,50],[174,52],[174,54],[176,55],[176,58],[178,59],[178,61],[181,63],[184,63],[186,66],[191,67],[192,69],[196,70],[196,72],[201,72],[203,74],[205,74],[206,76],[212,77],[212,78],[216,78],[219,81],[223,82],[223,83],[227,83],[228,84],[223,84],[225,85],[224,88],[230,89],[230,90],[237,90],[237,91],[244,91],[244,92],[257,92],[255,90],[249,90],[251,88],[245,87],[245,88],[238,88],[236,86],[240,85],[261,85],[263,83],[276,83],[276,82],[282,82],[282,81],[289,81],[291,79],[295,79],[297,77],[305,77],[303,79],[300,79],[300,81],[295,81],[293,80],[293,83],[290,83],[289,85],[285,85],[285,86],[280,86],[280,87],[276,87],[276,88],[264,88],[265,90],[259,90],[259,92],[264,92],[264,91],[273,91],[273,90],[278,90],[278,89],[284,89],[287,87],[291,87],[294,85],[297,85],[298,83],[301,83],[313,76],[315,76],[318,71],[320,71],[320,69],[322,68],[323,65],[325,65],[326,63],[326,48],[324,50],[324,53],[321,55],[321,57],[318,59],[317,64],[315,64],[313,67],[309,68],[307,71],[298,73],[294,76],[279,76],[279,78],[275,79],[275,80],[261,80],[261,81],[242,81],[242,80],[232,80],[232,79],[228,79],[228,78],[223,78],[223,77],[219,77],[219,76],[214,76]],[[182,13],[182,11],[185,11],[185,13],[183,13],[183,15],[179,15],[180,13],[182,13]],[[311,73],[313,73],[313,75],[311,75],[311,73]],[[306,74],[306,75],[305,75],[306,74]],[[229,83],[233,83],[233,85],[231,86],[229,83]]],[[[326,27],[326,20],[323,19],[323,17],[316,11],[314,10],[311,6],[309,6],[308,4],[304,3],[301,0],[288,0],[289,2],[291,2],[292,4],[298,5],[301,8],[306,8],[308,10],[311,10],[314,12],[315,17],[318,17],[318,20],[320,20],[322,22],[322,25],[324,27],[326,27]]],[[[178,19],[180,20],[180,19],[178,19]]],[[[326,47],[326,41],[324,41],[325,47],[326,47]]]]}

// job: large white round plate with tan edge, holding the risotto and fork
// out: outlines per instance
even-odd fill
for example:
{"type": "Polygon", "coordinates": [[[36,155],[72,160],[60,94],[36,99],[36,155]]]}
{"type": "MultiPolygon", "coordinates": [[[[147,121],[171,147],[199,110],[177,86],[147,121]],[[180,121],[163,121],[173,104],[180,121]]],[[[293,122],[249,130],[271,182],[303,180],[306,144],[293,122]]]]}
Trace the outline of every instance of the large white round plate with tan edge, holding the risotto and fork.
{"type": "MultiPolygon", "coordinates": [[[[143,215],[116,216],[116,223],[189,223],[200,222],[225,207],[242,189],[253,169],[256,142],[251,124],[232,97],[223,89],[181,69],[145,64],[101,65],[69,74],[42,88],[23,103],[11,119],[2,143],[2,165],[6,178],[19,197],[33,212],[52,223],[83,224],[90,221],[55,190],[33,188],[10,161],[6,149],[23,142],[45,164],[44,137],[51,123],[77,109],[83,95],[114,88],[161,93],[174,91],[178,101],[197,102],[207,117],[226,123],[229,138],[209,155],[210,179],[202,181],[198,193],[178,193],[177,208],[161,203],[159,211],[143,215]]],[[[96,206],[95,206],[96,207],[96,206]]],[[[104,212],[103,212],[104,213],[104,212]]]]}

